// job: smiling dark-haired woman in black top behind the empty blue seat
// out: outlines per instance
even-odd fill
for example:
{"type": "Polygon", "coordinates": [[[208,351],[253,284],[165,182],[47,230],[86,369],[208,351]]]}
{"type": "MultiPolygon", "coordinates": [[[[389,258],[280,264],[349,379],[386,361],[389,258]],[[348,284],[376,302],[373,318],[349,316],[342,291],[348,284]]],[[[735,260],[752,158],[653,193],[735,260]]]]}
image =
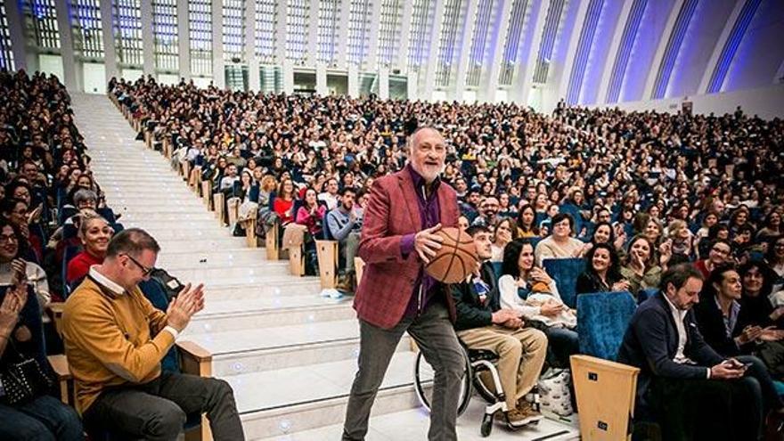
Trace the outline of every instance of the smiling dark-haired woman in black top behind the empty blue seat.
{"type": "Polygon", "coordinates": [[[577,294],[629,290],[629,282],[620,272],[615,249],[599,243],[585,255],[585,271],[577,276],[577,294]]]}

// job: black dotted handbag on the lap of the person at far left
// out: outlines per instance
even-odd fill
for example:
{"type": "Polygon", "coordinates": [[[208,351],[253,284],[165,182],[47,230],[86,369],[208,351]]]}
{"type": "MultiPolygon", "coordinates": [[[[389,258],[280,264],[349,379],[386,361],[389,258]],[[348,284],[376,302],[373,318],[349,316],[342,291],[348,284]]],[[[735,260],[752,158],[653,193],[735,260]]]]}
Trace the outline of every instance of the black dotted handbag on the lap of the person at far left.
{"type": "Polygon", "coordinates": [[[9,363],[0,372],[0,383],[5,392],[4,401],[8,404],[24,404],[49,393],[54,386],[54,380],[44,371],[41,364],[35,358],[21,355],[12,340],[8,343],[20,355],[21,361],[9,363]]]}

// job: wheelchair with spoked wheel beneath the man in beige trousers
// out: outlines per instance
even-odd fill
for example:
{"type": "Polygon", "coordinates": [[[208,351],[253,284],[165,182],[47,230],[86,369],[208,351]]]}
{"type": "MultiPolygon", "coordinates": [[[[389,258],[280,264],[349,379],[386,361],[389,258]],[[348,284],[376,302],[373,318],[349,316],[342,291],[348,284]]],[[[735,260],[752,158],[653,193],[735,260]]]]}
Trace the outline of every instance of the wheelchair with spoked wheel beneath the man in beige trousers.
{"type": "MultiPolygon", "coordinates": [[[[520,427],[515,427],[510,424],[506,412],[509,410],[506,405],[506,395],[503,393],[501,387],[501,377],[498,375],[498,368],[495,363],[498,361],[498,355],[493,351],[486,349],[469,349],[461,341],[461,347],[465,352],[465,375],[463,375],[461,382],[460,401],[457,407],[457,416],[461,416],[463,412],[469,407],[469,402],[473,390],[476,389],[478,395],[481,396],[487,403],[485,407],[485,416],[482,418],[482,425],[479,429],[482,437],[489,437],[490,432],[493,431],[493,420],[497,412],[502,412],[502,418],[506,422],[506,426],[511,430],[519,430],[520,427]],[[486,385],[483,377],[489,377],[492,381],[492,388],[486,385]],[[499,391],[499,392],[496,392],[499,391]]],[[[416,361],[414,362],[414,391],[417,398],[423,407],[430,410],[430,402],[432,401],[433,389],[433,367],[425,360],[424,355],[420,351],[417,354],[416,361]]],[[[539,396],[536,389],[532,390],[534,405],[538,407],[539,396]]],[[[533,421],[530,424],[535,425],[538,421],[533,421]]]]}

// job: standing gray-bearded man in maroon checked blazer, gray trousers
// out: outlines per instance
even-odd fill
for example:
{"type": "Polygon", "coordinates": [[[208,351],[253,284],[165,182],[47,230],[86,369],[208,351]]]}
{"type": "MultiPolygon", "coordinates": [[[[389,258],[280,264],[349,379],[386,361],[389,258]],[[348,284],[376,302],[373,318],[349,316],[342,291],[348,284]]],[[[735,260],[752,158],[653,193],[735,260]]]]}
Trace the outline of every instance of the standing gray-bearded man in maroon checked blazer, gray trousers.
{"type": "Polygon", "coordinates": [[[409,163],[373,183],[359,257],[365,262],[354,307],[360,324],[358,367],[348,399],[344,440],[364,439],[373,400],[397,343],[408,332],[435,370],[431,440],[454,440],[465,356],[454,334],[452,296],[424,272],[441,248],[436,232],[457,227],[457,195],[439,179],[446,146],[437,130],[409,138],[409,163]]]}

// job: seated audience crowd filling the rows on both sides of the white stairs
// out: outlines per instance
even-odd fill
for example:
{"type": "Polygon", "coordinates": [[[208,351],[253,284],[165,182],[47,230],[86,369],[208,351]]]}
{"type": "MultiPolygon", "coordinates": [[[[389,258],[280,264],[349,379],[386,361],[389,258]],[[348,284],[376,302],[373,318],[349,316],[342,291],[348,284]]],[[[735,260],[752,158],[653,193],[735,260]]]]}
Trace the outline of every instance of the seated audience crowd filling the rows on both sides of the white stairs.
{"type": "MultiPolygon", "coordinates": [[[[122,225],[94,182],[57,78],[2,72],[0,92],[0,372],[35,360],[45,387],[52,376],[44,355],[62,351],[47,306],[102,265],[122,225]]],[[[512,103],[249,94],[151,78],[113,79],[109,93],[152,131],[158,148],[172,145],[175,162],[187,162],[227,200],[238,198],[240,217],[230,219],[238,233],[255,217],[262,238],[275,225],[281,233],[302,225],[312,255],[314,239],[339,241],[346,290],[353,290],[374,180],[405,167],[416,127],[436,128],[446,145],[440,179],[458,194],[461,226],[481,242],[486,265],[476,277],[494,296],[492,306],[470,307],[502,311],[488,323],[458,316],[459,335],[478,339],[480,324],[515,320],[535,328],[525,337],[527,365],[512,367],[522,380],[503,380],[518,388],[510,408],[542,363],[568,367],[568,355],[580,350],[574,298],[548,270],[553,259],[578,268],[576,296],[676,298],[698,279],[697,300],[670,303],[682,311],[695,305],[689,316],[711,348],[695,362],[739,360],[733,363],[752,366],[763,388],[765,375],[784,380],[781,119],[740,109],[718,116],[565,105],[543,115],[512,103]],[[690,270],[678,273],[680,264],[690,270]],[[551,350],[543,362],[545,342],[551,350]]],[[[307,261],[317,271],[315,259],[307,261]]],[[[476,303],[476,289],[453,294],[476,303]]],[[[626,362],[637,361],[637,343],[625,341],[626,362]]],[[[780,400],[769,392],[760,407],[777,411],[780,400]]],[[[0,425],[2,436],[32,439],[29,430],[76,439],[67,434],[82,431],[78,414],[47,394],[19,404],[6,390],[0,414],[12,421],[0,425]]]]}

